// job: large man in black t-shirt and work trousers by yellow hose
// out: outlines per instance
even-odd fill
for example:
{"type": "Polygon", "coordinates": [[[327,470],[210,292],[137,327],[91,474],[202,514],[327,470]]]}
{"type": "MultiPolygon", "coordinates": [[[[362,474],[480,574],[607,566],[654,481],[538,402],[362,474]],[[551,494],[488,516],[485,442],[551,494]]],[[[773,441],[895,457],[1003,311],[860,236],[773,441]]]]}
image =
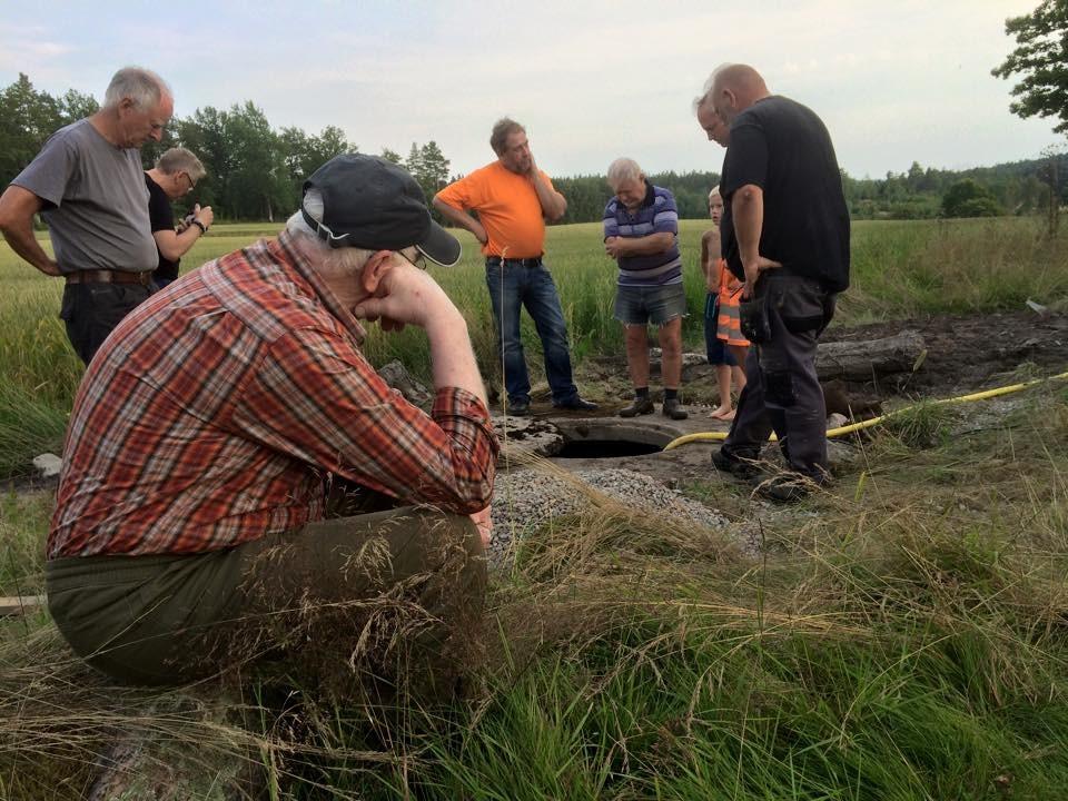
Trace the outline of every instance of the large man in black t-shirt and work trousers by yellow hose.
{"type": "Polygon", "coordinates": [[[829,477],[815,347],[833,316],[835,295],[849,286],[841,172],[820,118],[772,96],[752,67],[718,69],[695,108],[709,138],[728,147],[720,181],[723,257],[745,280],[745,312],[763,313],[767,320],[763,342],[759,332],[749,336],[754,344],[745,365],[749,383],[712,462],[753,476],[752,462],[774,431],[789,472],[761,483],[758,492],[797,501],[829,477]]]}

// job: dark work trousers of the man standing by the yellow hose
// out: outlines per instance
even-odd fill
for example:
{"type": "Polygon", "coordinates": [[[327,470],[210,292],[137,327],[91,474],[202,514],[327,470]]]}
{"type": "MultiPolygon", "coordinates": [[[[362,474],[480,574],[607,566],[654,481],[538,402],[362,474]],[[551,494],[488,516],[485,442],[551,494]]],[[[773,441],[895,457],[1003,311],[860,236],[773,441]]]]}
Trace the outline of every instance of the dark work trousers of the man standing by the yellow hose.
{"type": "Polygon", "coordinates": [[[819,281],[769,270],[756,283],[765,298],[771,339],[754,344],[745,388],[723,454],[755,459],[771,432],[791,471],[827,479],[827,407],[815,374],[815,346],[834,315],[834,295],[819,281]]]}

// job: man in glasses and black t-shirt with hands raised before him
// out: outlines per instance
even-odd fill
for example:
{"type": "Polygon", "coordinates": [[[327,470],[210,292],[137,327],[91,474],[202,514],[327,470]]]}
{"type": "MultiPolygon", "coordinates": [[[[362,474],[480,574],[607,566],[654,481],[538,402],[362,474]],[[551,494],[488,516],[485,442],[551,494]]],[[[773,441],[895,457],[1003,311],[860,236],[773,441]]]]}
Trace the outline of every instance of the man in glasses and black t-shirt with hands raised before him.
{"type": "Polygon", "coordinates": [[[178,263],[197,239],[208,233],[215,215],[210,206],[195,204],[192,211],[175,229],[175,212],[170,201],[185,197],[197,187],[206,170],[200,159],[185,148],[171,148],[145,172],[148,187],[148,218],[152,238],[159,251],[159,265],[152,273],[152,283],[162,289],[178,278],[178,263]]]}

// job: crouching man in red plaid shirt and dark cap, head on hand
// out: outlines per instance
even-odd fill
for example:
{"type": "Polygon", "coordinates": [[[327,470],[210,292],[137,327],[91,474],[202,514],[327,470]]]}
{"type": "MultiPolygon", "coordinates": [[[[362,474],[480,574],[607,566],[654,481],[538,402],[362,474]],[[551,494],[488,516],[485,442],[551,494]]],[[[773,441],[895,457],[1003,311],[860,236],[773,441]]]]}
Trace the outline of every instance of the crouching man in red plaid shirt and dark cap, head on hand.
{"type": "Polygon", "coordinates": [[[79,655],[172,683],[263,650],[355,659],[357,611],[386,597],[422,610],[432,654],[477,617],[497,443],[424,256],[455,264],[459,244],[415,180],[338,156],[276,239],[122,320],[75,399],[48,538],[49,607],[79,655]],[[429,415],[368,364],[359,320],[426,332],[429,415]]]}

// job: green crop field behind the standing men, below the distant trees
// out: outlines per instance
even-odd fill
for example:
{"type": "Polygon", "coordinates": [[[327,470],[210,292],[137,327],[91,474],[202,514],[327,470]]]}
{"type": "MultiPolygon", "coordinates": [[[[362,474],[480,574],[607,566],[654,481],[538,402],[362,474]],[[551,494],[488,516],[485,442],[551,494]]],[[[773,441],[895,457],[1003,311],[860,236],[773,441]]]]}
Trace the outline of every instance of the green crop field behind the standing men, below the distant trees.
{"type": "MultiPolygon", "coordinates": [[[[185,269],[277,233],[279,226],[217,225],[182,259],[185,269]]],[[[703,220],[684,220],[690,317],[689,347],[703,349],[704,288],[698,259],[703,220]]],[[[475,354],[487,382],[501,382],[496,339],[482,259],[466,231],[458,236],[458,267],[437,268],[435,277],[467,317],[475,354]]],[[[42,236],[43,240],[43,236],[42,236]]],[[[47,241],[46,241],[47,246],[47,241]]],[[[595,224],[551,227],[546,245],[571,333],[575,362],[593,354],[621,354],[621,326],[612,318],[615,268],[601,247],[595,224]]],[[[1028,297],[1050,303],[1068,295],[1068,259],[1059,239],[1050,240],[1039,221],[999,218],[952,221],[861,221],[853,226],[852,288],[840,300],[837,326],[920,315],[980,313],[1020,308],[1028,297]]],[[[0,241],[0,475],[24,465],[30,451],[51,442],[70,408],[81,364],[57,318],[62,285],[21,263],[0,241]],[[32,407],[32,409],[31,409],[32,407]],[[28,414],[29,411],[29,414],[28,414]],[[30,419],[27,419],[27,418],[30,419]],[[8,447],[3,447],[8,446],[8,447]]],[[[535,378],[538,342],[524,315],[523,340],[535,378]]],[[[399,358],[417,376],[428,376],[422,332],[382,336],[374,328],[366,344],[373,364],[399,358]]],[[[40,453],[40,451],[36,451],[40,453]]],[[[32,456],[32,454],[30,454],[32,456]]]]}

